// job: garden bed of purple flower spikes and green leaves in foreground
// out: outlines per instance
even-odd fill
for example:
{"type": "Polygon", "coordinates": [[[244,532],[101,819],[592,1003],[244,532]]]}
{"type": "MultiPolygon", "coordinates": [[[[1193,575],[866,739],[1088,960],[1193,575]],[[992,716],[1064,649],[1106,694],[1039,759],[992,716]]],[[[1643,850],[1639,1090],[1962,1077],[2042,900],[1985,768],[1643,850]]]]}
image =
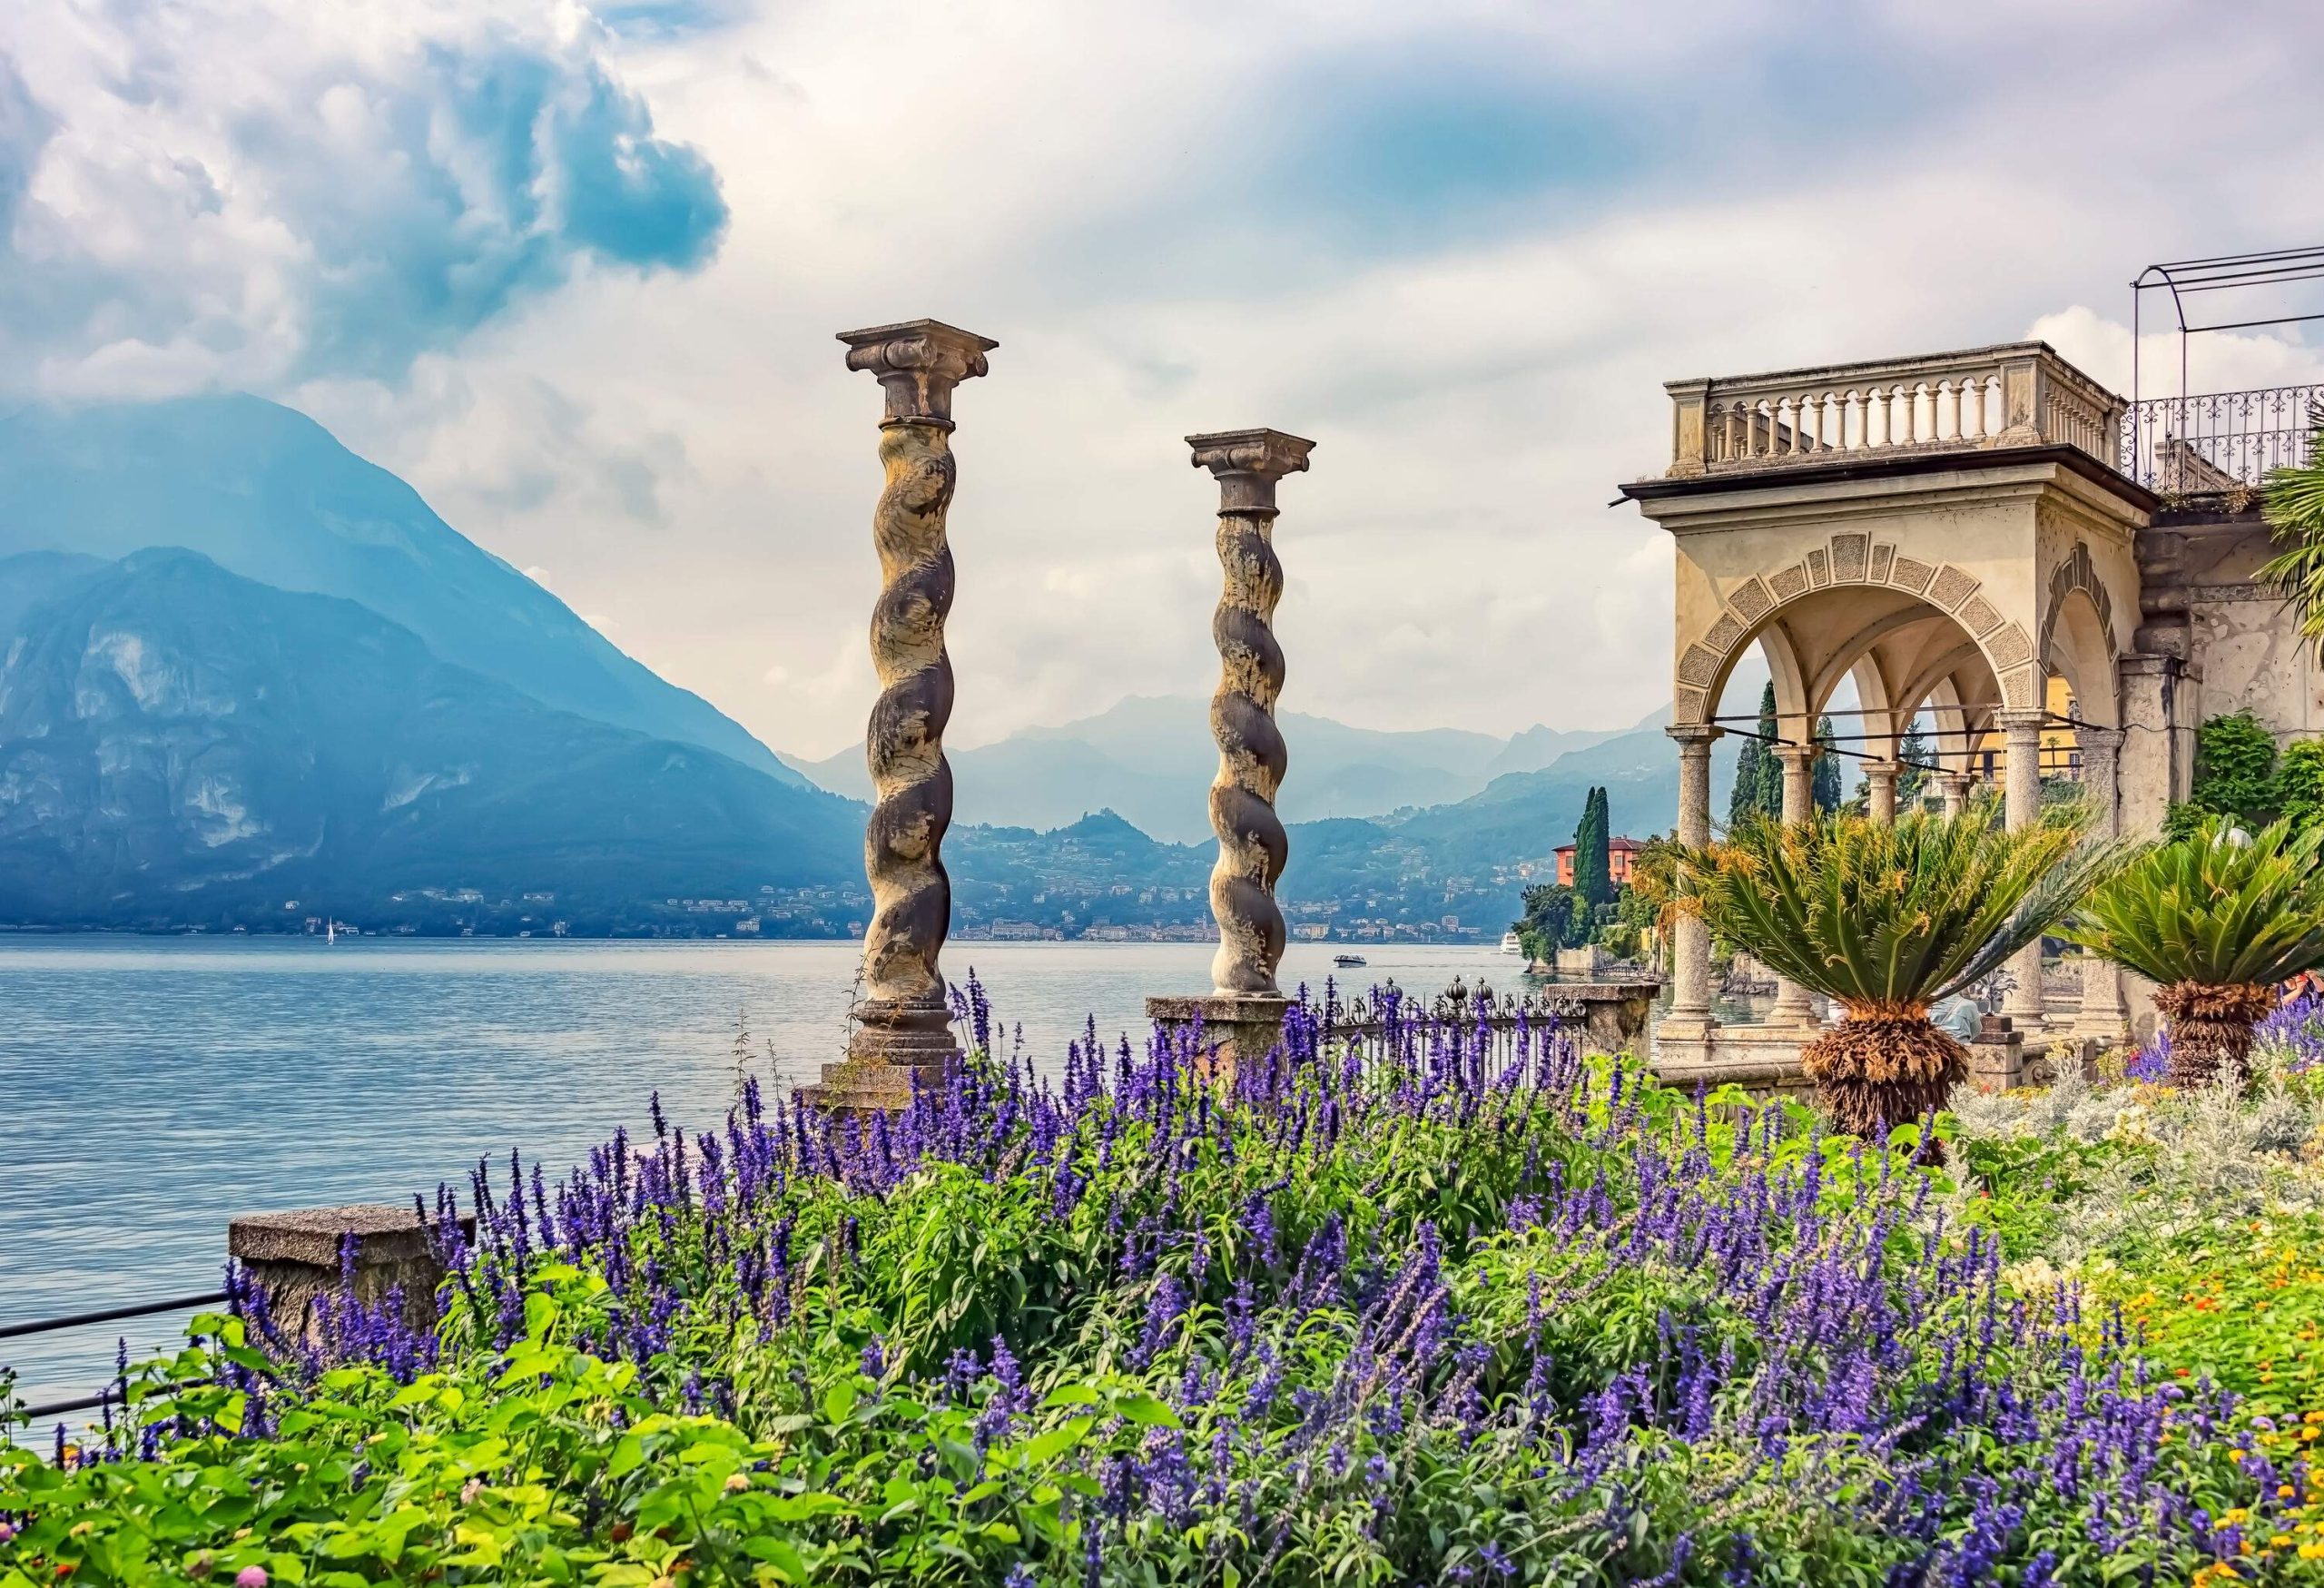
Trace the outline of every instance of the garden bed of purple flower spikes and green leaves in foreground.
{"type": "Polygon", "coordinates": [[[1964,1100],[1924,1169],[1290,1032],[479,1172],[432,1337],[244,1309],[0,1451],[0,1583],[2324,1581],[2296,1065],[1964,1100]]]}

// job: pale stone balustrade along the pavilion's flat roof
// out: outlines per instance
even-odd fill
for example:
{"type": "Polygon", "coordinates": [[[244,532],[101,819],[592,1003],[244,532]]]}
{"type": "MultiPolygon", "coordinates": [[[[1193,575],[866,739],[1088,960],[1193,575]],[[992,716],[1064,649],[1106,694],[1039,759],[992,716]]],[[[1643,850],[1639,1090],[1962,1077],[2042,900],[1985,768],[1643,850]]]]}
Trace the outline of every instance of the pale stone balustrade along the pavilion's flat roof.
{"type": "Polygon", "coordinates": [[[1978,446],[2075,446],[2113,465],[2126,402],[2045,342],[1669,381],[1671,477],[1978,446]]]}

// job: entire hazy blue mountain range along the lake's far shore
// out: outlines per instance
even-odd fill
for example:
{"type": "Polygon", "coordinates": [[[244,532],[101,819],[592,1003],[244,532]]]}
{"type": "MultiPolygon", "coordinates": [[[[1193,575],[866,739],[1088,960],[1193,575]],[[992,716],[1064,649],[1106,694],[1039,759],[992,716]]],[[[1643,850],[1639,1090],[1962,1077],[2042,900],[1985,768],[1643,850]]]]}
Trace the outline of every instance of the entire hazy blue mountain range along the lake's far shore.
{"type": "MultiPolygon", "coordinates": [[[[1676,814],[1652,723],[1283,721],[1294,902],[1499,930],[1592,784],[1618,830],[1676,814]]],[[[1192,698],[960,751],[960,918],[1199,918],[1213,765],[1192,698]]],[[[290,409],[0,419],[0,923],[279,925],[297,900],[453,930],[504,902],[497,930],[539,900],[702,930],[686,900],[741,900],[837,932],[869,788],[855,753],[799,767],[290,409]]]]}

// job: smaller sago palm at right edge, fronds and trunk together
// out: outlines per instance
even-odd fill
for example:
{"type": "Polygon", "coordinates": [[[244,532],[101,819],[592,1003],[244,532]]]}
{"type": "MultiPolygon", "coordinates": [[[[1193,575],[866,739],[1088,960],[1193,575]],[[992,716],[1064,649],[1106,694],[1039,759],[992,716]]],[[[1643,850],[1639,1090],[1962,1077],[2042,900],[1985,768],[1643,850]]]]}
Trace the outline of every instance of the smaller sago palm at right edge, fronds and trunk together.
{"type": "Polygon", "coordinates": [[[2243,1079],[2275,986],[2324,965],[2324,825],[2240,832],[2205,816],[2096,888],[2066,935],[2154,983],[2171,1081],[2243,1079]]]}

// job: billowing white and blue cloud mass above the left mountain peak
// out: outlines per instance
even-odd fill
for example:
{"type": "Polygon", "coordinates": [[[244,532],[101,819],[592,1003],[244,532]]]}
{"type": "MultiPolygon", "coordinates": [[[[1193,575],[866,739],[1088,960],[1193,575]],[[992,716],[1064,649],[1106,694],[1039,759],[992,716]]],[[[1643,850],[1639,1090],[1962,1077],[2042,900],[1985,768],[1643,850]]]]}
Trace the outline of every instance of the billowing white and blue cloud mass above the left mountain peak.
{"type": "MultiPolygon", "coordinates": [[[[404,374],[727,207],[588,14],[353,0],[0,21],[0,363],[49,393],[404,374]]],[[[49,12],[49,16],[42,16],[49,12]]]]}

